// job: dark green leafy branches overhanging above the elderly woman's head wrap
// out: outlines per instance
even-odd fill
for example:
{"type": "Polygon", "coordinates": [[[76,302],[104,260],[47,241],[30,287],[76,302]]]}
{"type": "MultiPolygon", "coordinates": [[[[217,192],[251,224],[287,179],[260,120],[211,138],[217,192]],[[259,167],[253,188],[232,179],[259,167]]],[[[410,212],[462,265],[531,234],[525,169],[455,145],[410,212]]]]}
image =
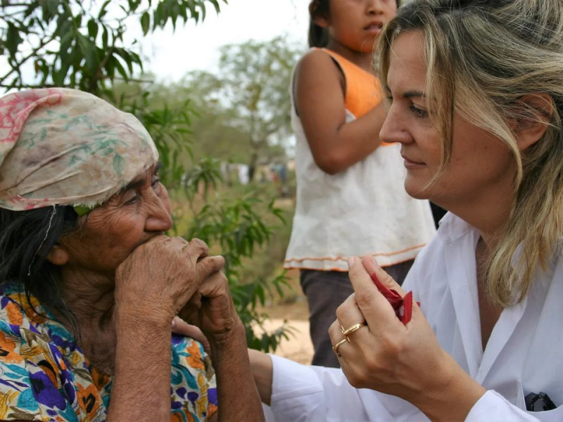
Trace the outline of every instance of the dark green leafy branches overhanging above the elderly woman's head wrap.
{"type": "MultiPolygon", "coordinates": [[[[222,0],[226,3],[226,0],[222,0]]],[[[0,53],[8,70],[0,87],[72,87],[98,93],[115,78],[131,79],[143,60],[125,46],[127,23],[143,34],[178,20],[203,20],[219,0],[21,0],[0,3],[0,53]],[[100,4],[101,3],[101,4],[100,4]],[[23,70],[33,70],[28,81],[23,70]]]]}

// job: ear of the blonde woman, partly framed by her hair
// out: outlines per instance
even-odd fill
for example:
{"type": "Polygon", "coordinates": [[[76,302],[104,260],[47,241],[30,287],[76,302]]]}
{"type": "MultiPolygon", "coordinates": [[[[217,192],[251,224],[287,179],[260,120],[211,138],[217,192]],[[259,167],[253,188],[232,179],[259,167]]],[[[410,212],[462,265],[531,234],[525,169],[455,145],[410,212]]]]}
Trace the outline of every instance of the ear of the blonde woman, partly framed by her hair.
{"type": "Polygon", "coordinates": [[[526,94],[520,98],[525,106],[532,110],[529,117],[519,120],[515,127],[515,134],[520,151],[539,141],[550,126],[554,105],[550,95],[526,94]]]}

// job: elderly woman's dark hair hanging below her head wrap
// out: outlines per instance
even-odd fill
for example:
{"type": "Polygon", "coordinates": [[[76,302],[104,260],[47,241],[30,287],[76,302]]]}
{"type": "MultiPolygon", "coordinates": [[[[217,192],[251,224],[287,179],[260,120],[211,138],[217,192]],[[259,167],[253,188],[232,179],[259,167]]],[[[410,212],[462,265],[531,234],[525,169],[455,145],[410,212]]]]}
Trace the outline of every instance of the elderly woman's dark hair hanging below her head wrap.
{"type": "Polygon", "coordinates": [[[23,286],[49,311],[67,319],[77,331],[76,318],[60,290],[61,269],[47,260],[49,251],[63,234],[77,226],[78,215],[68,205],[11,211],[0,209],[0,286],[23,286]]]}

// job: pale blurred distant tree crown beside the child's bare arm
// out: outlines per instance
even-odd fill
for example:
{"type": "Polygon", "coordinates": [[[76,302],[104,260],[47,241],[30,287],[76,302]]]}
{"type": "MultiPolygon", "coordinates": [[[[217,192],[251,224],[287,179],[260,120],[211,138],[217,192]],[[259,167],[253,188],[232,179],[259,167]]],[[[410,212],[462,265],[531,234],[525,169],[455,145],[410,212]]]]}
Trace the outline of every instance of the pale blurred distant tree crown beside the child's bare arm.
{"type": "MultiPolygon", "coordinates": [[[[284,155],[291,134],[288,89],[301,53],[284,37],[226,45],[220,49],[217,74],[192,72],[184,79],[191,96],[210,110],[208,120],[220,117],[220,126],[243,134],[233,141],[245,151],[251,180],[260,160],[284,155]]],[[[217,133],[210,125],[201,129],[210,138],[217,133]]]]}

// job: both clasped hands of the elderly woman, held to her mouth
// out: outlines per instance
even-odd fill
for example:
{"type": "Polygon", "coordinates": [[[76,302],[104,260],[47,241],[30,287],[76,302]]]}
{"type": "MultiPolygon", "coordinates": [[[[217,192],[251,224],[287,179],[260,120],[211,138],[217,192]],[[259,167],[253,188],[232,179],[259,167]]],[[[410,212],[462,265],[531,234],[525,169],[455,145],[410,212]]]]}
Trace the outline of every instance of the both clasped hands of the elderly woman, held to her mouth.
{"type": "Polygon", "coordinates": [[[156,236],[139,245],[116,270],[116,308],[166,324],[179,315],[206,335],[230,331],[239,320],[224,258],[208,253],[199,239],[156,236]]]}

